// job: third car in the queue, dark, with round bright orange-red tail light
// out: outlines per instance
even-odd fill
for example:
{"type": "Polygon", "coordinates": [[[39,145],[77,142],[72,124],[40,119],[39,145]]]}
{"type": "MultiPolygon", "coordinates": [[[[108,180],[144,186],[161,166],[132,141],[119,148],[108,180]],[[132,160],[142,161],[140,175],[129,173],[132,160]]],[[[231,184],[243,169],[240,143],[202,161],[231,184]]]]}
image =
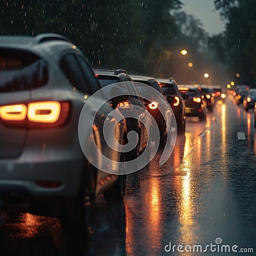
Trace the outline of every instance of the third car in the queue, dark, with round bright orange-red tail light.
{"type": "Polygon", "coordinates": [[[143,95],[147,95],[147,99],[143,100],[146,103],[148,112],[155,118],[157,122],[157,126],[160,133],[160,146],[161,148],[164,148],[167,141],[168,127],[170,127],[171,120],[169,115],[170,108],[168,107],[167,102],[167,104],[161,104],[163,106],[164,115],[162,115],[161,111],[158,108],[159,103],[163,102],[163,99],[161,98],[161,95],[163,95],[163,91],[161,90],[161,87],[157,83],[156,79],[154,79],[153,77],[135,75],[130,76],[132,77],[132,80],[134,81],[134,84],[137,86],[139,92],[143,91],[143,95]],[[148,92],[148,86],[157,90],[157,92],[159,92],[161,95],[159,95],[158,93],[150,94],[148,92]]]}

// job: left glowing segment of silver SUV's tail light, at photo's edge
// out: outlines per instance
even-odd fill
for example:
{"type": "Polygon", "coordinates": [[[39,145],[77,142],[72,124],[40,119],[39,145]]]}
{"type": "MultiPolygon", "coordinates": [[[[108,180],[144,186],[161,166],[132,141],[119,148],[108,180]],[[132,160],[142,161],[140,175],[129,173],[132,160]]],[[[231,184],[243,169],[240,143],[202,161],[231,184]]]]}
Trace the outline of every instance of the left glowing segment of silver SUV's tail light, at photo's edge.
{"type": "Polygon", "coordinates": [[[0,117],[6,121],[22,121],[26,118],[27,107],[24,104],[0,107],[0,117]]]}

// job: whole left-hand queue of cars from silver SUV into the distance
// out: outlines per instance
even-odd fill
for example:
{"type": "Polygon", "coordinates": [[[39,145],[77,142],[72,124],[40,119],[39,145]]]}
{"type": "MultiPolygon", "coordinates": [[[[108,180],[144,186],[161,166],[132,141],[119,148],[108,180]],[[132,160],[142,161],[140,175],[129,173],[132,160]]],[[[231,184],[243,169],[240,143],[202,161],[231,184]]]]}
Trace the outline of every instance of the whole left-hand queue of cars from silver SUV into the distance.
{"type": "Polygon", "coordinates": [[[150,115],[164,148],[172,111],[180,134],[186,116],[205,120],[207,108],[212,111],[207,88],[122,69],[92,70],[83,52],[56,34],[0,36],[0,76],[0,208],[58,216],[69,231],[88,230],[96,195],[103,193],[108,202],[124,198],[120,163],[136,159],[150,145],[150,115]],[[113,91],[90,100],[110,84],[113,91]],[[85,105],[88,122],[81,141],[77,131],[85,105]],[[115,134],[110,144],[104,137],[108,124],[115,134]],[[129,137],[133,131],[138,137],[129,137]],[[122,152],[129,140],[135,147],[122,152]],[[104,157],[113,162],[104,164],[104,157]]]}

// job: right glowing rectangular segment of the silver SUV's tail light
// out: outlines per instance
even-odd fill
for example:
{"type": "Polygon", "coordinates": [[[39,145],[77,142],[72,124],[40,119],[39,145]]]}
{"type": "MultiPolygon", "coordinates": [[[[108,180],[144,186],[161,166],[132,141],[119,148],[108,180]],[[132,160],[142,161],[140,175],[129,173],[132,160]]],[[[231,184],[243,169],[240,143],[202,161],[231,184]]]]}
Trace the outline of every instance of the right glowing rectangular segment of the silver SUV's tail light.
{"type": "Polygon", "coordinates": [[[28,119],[31,122],[55,123],[60,117],[61,105],[57,101],[28,104],[28,119]]]}

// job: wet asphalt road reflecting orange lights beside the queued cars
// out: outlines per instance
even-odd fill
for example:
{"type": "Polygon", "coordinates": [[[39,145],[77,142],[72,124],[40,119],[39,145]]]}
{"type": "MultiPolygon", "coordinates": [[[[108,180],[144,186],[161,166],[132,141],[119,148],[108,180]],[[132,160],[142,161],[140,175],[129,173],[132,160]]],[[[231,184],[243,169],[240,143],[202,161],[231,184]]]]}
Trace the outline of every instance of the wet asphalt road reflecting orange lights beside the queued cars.
{"type": "Polygon", "coordinates": [[[97,197],[90,244],[64,236],[58,219],[1,212],[0,255],[256,255],[255,141],[253,111],[230,97],[206,122],[188,119],[166,164],[157,154],[129,175],[124,204],[97,197]],[[218,250],[217,237],[219,248],[237,245],[237,253],[173,249],[212,243],[218,250]]]}

